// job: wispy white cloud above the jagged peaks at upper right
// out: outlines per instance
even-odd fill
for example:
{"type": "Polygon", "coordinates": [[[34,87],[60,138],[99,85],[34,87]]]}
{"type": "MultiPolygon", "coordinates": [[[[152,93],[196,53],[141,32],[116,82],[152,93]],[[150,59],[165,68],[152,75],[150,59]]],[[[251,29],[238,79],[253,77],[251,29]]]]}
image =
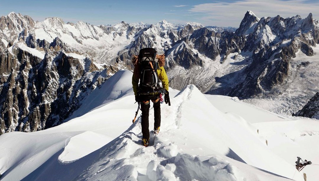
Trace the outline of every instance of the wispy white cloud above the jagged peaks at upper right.
{"type": "MultiPolygon", "coordinates": [[[[201,13],[200,20],[204,25],[217,26],[234,26],[239,24],[244,17],[246,11],[253,11],[256,16],[261,17],[292,17],[300,15],[305,18],[310,12],[317,13],[319,9],[318,1],[308,0],[240,0],[234,2],[216,2],[198,4],[193,6],[189,11],[191,13],[201,13]]],[[[313,14],[313,18],[317,19],[319,14],[313,14]]]]}

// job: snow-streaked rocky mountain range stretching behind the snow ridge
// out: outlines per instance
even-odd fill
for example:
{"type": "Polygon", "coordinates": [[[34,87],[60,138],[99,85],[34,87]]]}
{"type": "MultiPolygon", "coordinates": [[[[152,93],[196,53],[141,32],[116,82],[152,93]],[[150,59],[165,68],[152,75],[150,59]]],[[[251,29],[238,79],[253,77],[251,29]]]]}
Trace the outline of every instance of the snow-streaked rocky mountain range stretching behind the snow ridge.
{"type": "MultiPolygon", "coordinates": [[[[281,101],[299,110],[318,89],[319,23],[310,13],[257,18],[240,27],[121,22],[94,26],[61,18],[0,18],[0,134],[61,124],[118,69],[132,69],[139,49],[166,55],[170,86],[241,99],[281,101]],[[254,99],[251,99],[254,98],[254,99]]],[[[280,111],[278,111],[280,112],[280,111]]]]}

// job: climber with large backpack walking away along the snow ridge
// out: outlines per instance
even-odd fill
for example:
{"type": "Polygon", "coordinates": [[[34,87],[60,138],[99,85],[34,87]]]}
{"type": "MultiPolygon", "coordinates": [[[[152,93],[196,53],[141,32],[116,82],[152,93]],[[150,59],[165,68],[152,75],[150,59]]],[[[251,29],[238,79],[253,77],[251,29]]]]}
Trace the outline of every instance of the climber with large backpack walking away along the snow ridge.
{"type": "Polygon", "coordinates": [[[132,63],[134,64],[132,85],[135,101],[140,104],[142,111],[142,143],[147,147],[150,139],[148,121],[150,101],[153,102],[154,108],[154,134],[159,133],[162,94],[164,94],[165,103],[170,105],[168,78],[164,69],[165,55],[156,54],[154,48],[143,48],[140,49],[138,56],[133,56],[132,63]],[[159,84],[159,80],[163,87],[159,84]]]}

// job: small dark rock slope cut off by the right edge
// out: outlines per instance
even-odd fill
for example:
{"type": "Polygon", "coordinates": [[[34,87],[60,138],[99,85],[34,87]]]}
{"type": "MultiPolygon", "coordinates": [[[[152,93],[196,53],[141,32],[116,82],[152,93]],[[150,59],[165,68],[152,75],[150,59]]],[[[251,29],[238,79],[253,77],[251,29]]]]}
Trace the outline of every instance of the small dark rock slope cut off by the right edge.
{"type": "Polygon", "coordinates": [[[309,102],[293,116],[319,119],[319,92],[312,97],[309,102]]]}

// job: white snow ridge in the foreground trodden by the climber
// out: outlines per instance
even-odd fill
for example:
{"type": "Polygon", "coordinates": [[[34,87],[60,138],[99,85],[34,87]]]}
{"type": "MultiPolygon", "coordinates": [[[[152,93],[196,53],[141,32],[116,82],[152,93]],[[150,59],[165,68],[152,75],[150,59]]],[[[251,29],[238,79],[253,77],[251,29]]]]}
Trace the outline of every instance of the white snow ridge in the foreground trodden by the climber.
{"type": "MultiPolygon", "coordinates": [[[[204,95],[194,85],[170,89],[172,105],[161,104],[160,132],[155,137],[151,132],[150,146],[144,147],[140,112],[131,122],[137,109],[127,82],[131,76],[130,71],[112,76],[114,87],[96,89],[80,117],[43,131],[1,135],[2,180],[302,181],[296,157],[319,162],[318,121],[291,120],[238,98],[204,95]]],[[[149,120],[152,130],[152,108],[149,120]]],[[[307,180],[319,177],[315,167],[303,172],[307,180]]]]}

